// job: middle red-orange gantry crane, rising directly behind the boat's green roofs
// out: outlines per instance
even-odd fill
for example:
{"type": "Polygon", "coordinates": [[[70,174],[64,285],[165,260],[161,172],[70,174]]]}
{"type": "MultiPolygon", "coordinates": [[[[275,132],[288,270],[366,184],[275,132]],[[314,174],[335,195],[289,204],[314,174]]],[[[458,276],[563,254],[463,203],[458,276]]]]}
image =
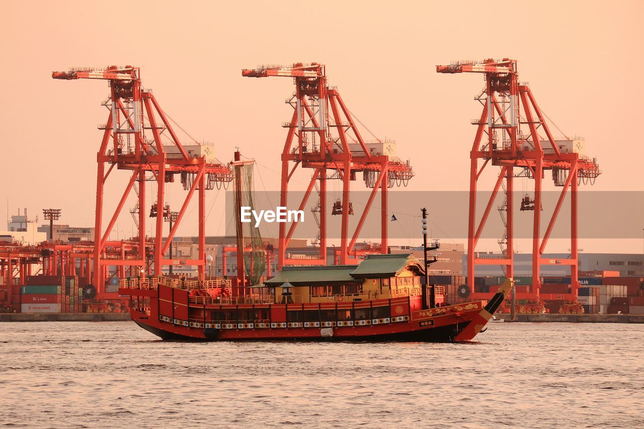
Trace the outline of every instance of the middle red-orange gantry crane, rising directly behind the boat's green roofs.
{"type": "Polygon", "coordinates": [[[298,62],[291,66],[258,66],[253,70],[242,70],[242,75],[290,77],[294,80],[296,90],[286,100],[294,111],[290,122],[283,124],[289,131],[281,154],[280,205],[287,206],[289,181],[298,166],[313,169],[299,210],[307,204],[314,187],[319,192],[319,207],[316,204],[314,208],[316,216],[319,212],[319,219],[316,217],[316,222],[319,222],[319,257],[308,260],[287,258],[286,249],[296,224],[290,224],[287,231],[287,225],[281,223],[278,267],[327,264],[328,180],[340,180],[342,183],[342,198],[334,202],[332,210],[332,214],[342,216],[341,241],[339,248],[336,248],[339,263],[346,264],[357,258],[359,253],[355,250],[355,242],[378,190],[381,191],[381,245],[374,253],[387,253],[387,189],[394,185],[406,185],[413,176],[409,162],[397,158],[395,142],[379,139],[366,142],[363,139],[337,88],[328,86],[323,64],[298,62]],[[290,163],[294,163],[292,167],[290,163]],[[350,236],[348,216],[353,214],[354,208],[350,201],[350,183],[359,171],[363,173],[365,185],[373,190],[354,233],[350,236]]]}

